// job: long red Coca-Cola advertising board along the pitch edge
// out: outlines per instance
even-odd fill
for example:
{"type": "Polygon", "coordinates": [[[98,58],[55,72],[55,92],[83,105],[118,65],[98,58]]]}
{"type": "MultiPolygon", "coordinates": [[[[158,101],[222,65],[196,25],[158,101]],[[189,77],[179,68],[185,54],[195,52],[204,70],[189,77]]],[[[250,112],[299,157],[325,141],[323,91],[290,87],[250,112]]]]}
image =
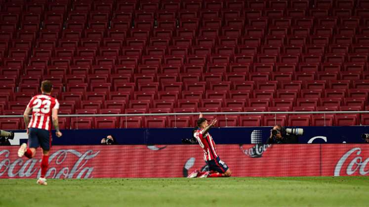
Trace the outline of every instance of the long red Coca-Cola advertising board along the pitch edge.
{"type": "MultiPolygon", "coordinates": [[[[40,176],[41,150],[18,158],[17,146],[0,147],[0,178],[40,176]]],[[[366,144],[224,144],[217,152],[232,176],[369,175],[366,144]]],[[[206,170],[198,145],[53,146],[48,178],[183,177],[206,170]]]]}

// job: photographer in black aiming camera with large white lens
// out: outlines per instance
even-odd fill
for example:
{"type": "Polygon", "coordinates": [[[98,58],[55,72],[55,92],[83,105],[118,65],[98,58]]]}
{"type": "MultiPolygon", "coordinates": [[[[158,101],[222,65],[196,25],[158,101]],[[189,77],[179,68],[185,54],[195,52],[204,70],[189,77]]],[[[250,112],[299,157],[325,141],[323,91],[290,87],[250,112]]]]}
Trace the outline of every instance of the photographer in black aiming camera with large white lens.
{"type": "Polygon", "coordinates": [[[302,129],[290,129],[276,125],[270,131],[267,144],[296,144],[298,143],[298,135],[302,135],[302,133],[302,129]]]}

